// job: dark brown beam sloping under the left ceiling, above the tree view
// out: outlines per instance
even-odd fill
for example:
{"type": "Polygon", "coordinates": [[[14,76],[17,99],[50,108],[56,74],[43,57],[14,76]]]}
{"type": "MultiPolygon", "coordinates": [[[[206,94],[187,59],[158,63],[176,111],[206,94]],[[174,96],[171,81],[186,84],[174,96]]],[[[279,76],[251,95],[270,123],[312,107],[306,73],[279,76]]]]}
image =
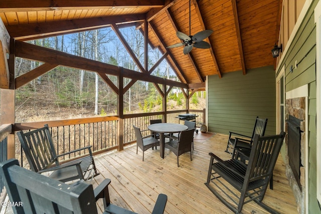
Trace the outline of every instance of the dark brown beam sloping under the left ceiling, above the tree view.
{"type": "Polygon", "coordinates": [[[95,30],[111,24],[135,23],[143,21],[145,15],[135,14],[126,16],[99,17],[81,20],[66,20],[53,23],[31,23],[26,25],[7,26],[11,37],[26,41],[44,37],[52,37],[81,31],[95,30]]]}

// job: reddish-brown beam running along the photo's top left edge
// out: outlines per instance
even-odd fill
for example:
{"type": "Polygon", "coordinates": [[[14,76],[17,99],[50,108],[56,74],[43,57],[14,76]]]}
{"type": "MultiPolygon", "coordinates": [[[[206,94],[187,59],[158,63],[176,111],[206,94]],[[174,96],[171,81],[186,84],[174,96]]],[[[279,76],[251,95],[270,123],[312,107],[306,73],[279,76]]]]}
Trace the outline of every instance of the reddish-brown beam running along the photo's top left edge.
{"type": "Polygon", "coordinates": [[[113,8],[162,8],[164,0],[2,0],[0,8],[3,12],[27,12],[27,11],[58,11],[58,10],[79,10],[79,9],[113,9],[113,8]]]}

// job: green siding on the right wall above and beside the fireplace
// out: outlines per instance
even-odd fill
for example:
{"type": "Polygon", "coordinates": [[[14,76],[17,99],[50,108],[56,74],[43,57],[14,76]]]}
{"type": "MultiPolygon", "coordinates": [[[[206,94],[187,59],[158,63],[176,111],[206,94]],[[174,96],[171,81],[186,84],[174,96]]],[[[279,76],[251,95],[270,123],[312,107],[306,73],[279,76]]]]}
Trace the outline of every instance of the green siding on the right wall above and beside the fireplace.
{"type": "Polygon", "coordinates": [[[285,65],[285,92],[297,87],[308,85],[308,205],[307,213],[321,213],[316,199],[316,68],[315,42],[316,30],[314,24],[315,0],[303,19],[289,49],[279,68],[285,65]],[[290,67],[297,69],[290,72],[290,67]]]}

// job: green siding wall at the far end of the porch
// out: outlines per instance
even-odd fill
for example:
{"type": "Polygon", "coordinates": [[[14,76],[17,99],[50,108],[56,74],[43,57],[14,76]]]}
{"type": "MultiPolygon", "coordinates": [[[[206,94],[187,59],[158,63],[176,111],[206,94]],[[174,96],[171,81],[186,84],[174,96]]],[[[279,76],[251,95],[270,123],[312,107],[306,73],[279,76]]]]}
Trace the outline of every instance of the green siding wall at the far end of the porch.
{"type": "Polygon", "coordinates": [[[266,135],[275,134],[273,66],[208,77],[208,129],[252,135],[256,116],[268,118],[266,135]]]}

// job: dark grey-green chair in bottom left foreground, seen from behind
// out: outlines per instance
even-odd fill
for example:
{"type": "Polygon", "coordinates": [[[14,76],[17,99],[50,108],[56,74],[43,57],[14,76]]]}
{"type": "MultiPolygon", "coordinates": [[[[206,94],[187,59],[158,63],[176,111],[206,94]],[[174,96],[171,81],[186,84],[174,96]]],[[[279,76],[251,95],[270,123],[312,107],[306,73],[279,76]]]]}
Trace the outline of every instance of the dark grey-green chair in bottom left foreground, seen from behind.
{"type": "MultiPolygon", "coordinates": [[[[78,181],[67,185],[50,177],[38,174],[19,166],[16,159],[0,163],[0,174],[4,180],[9,199],[16,214],[24,213],[98,213],[96,201],[103,199],[104,212],[129,213],[110,203],[108,185],[110,179],[104,179],[95,189],[92,185],[78,181]]],[[[152,214],[164,213],[167,195],[159,194],[152,214]]]]}

